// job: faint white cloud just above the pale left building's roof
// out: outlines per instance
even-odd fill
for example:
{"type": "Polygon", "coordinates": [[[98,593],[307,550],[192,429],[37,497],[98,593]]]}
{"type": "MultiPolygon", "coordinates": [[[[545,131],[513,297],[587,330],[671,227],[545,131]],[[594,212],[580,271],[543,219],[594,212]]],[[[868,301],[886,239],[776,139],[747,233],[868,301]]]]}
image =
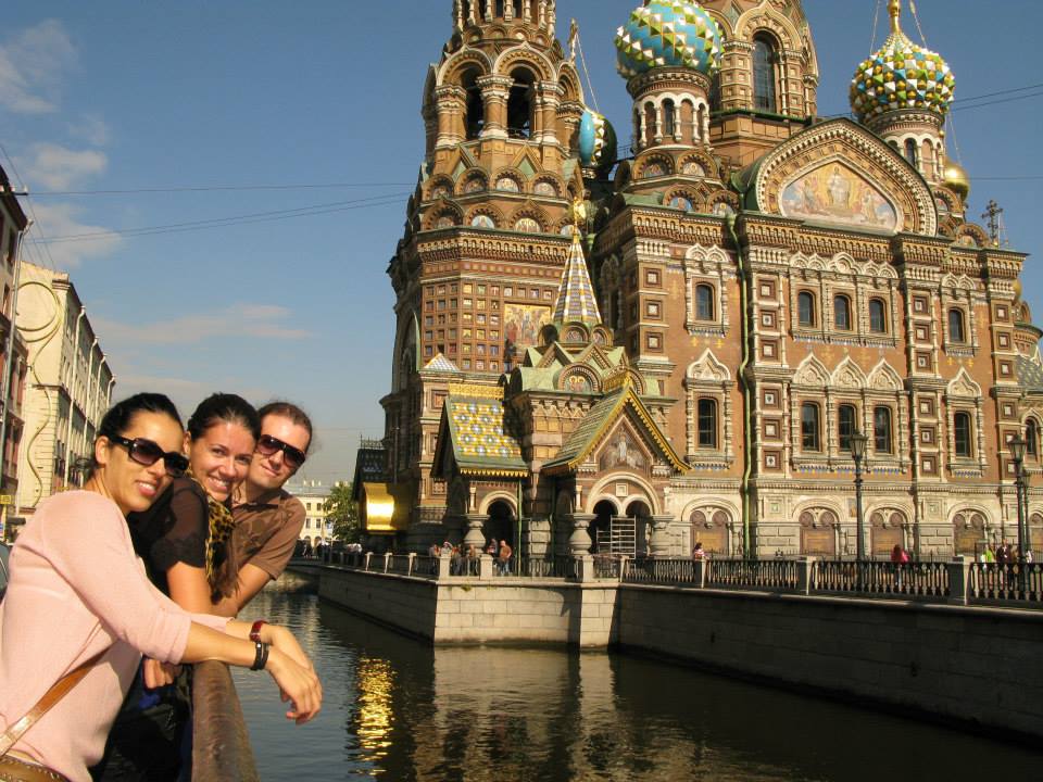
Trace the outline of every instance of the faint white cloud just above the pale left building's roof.
{"type": "Polygon", "coordinates": [[[123,243],[122,237],[108,234],[106,228],[81,223],[78,215],[83,210],[74,204],[34,201],[33,212],[38,223],[28,234],[26,257],[34,263],[50,265],[53,261],[59,269],[72,269],[87,258],[109,255],[123,243]],[[88,234],[99,236],[84,236],[88,234]],[[47,248],[40,242],[47,242],[47,248]]]}

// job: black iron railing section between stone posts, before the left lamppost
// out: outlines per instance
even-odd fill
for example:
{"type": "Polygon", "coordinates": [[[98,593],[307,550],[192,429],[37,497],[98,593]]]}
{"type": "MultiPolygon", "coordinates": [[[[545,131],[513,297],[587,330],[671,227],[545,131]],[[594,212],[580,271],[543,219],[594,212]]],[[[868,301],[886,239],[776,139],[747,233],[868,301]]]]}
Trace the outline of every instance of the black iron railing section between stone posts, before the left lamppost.
{"type": "Polygon", "coordinates": [[[950,594],[948,564],[822,559],[812,568],[812,591],[946,597],[950,594]]]}

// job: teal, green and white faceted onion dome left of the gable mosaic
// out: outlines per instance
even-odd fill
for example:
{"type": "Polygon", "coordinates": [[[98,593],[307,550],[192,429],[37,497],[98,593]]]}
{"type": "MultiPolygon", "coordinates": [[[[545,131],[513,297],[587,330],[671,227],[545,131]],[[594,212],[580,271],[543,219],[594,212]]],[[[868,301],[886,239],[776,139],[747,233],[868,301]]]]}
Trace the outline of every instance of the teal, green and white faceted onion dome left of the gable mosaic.
{"type": "Polygon", "coordinates": [[[616,70],[628,79],[663,66],[709,76],[720,65],[721,38],[717,22],[699,3],[644,0],[616,31],[616,70]]]}

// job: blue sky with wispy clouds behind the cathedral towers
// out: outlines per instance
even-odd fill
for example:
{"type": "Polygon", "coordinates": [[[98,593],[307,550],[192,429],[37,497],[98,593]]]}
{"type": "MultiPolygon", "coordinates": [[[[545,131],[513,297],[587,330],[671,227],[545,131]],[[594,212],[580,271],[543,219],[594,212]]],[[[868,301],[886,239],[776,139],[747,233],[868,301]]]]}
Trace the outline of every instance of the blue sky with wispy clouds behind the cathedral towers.
{"type": "MultiPolygon", "coordinates": [[[[630,98],[613,36],[636,0],[558,0],[590,73],[588,104],[620,131],[630,98]]],[[[906,5],[904,29],[921,38],[906,5]]],[[[888,34],[883,0],[805,0],[819,114],[846,115],[857,64],[888,34]],[[878,4],[880,13],[874,25],[878,4]]],[[[968,215],[1004,209],[1031,255],[1043,319],[1039,127],[1043,3],[917,0],[956,76],[948,153],[968,215]]],[[[213,391],[307,409],[300,476],[350,479],[390,390],[388,263],[424,153],[427,66],[452,0],[4,0],[0,165],[30,198],[24,257],[68,272],[117,376],[114,399],[213,391]]],[[[977,222],[981,222],[977,219],[977,222]]]]}

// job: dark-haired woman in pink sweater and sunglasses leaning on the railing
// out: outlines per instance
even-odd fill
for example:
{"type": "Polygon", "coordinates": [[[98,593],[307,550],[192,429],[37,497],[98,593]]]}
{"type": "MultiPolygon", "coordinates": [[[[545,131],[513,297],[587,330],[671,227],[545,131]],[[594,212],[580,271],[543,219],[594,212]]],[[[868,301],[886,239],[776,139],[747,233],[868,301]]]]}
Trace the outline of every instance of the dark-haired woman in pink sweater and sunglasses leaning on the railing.
{"type": "Polygon", "coordinates": [[[289,631],[188,614],[149,583],[134,554],[126,514],[147,509],[185,469],[183,438],[165,396],[137,394],[115,405],[99,429],[84,491],[46,500],[20,537],[0,603],[0,731],[66,673],[104,654],[0,758],[0,778],[48,769],[88,782],[87,767],[101,757],[142,654],[264,669],[292,703],[287,718],[302,723],[318,712],[322,686],[289,631]]]}

